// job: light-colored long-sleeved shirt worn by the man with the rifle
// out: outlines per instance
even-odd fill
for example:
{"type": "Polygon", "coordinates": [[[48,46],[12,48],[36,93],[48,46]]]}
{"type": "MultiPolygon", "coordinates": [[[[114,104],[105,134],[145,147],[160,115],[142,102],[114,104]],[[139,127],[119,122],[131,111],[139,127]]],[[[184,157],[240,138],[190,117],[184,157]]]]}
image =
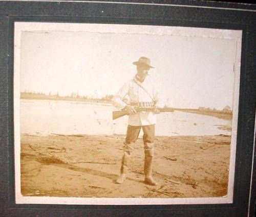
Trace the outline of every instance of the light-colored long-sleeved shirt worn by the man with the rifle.
{"type": "MultiPolygon", "coordinates": [[[[154,106],[164,107],[154,83],[147,78],[144,82],[140,82],[134,77],[134,79],[126,82],[113,97],[112,102],[119,110],[123,109],[126,105],[138,102],[155,102],[154,106]]],[[[156,124],[156,114],[151,111],[139,111],[136,114],[129,115],[128,124],[132,126],[156,124]]]]}

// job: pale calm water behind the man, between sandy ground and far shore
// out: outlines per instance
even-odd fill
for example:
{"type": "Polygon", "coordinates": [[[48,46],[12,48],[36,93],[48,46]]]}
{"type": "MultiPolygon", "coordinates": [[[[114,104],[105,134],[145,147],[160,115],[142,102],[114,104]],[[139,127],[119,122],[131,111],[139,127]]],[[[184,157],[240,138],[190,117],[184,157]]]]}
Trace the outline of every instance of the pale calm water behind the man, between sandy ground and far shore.
{"type": "MultiPolygon", "coordinates": [[[[115,108],[75,101],[21,100],[20,131],[28,134],[125,134],[127,116],[112,120],[115,108]]],[[[181,111],[158,114],[156,135],[230,135],[218,125],[231,126],[217,117],[181,111]]]]}

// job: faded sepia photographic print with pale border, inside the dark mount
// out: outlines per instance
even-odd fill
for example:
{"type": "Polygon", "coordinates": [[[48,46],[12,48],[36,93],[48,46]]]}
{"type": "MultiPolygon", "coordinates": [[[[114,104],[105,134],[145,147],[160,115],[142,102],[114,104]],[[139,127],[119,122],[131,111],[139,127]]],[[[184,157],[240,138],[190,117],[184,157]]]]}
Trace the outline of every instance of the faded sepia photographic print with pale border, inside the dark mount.
{"type": "Polygon", "coordinates": [[[16,203],[232,203],[241,40],[15,22],[16,203]]]}

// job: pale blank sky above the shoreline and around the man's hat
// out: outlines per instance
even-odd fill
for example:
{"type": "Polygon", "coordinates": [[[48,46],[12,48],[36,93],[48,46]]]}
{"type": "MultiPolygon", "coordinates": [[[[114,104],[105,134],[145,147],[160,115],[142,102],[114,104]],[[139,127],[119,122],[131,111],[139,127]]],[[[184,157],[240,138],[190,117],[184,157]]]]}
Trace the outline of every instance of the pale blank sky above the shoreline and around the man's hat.
{"type": "MultiPolygon", "coordinates": [[[[191,28],[192,29],[192,28],[191,28]]],[[[151,59],[167,106],[233,106],[236,40],[187,34],[27,31],[20,39],[20,91],[101,98],[136,74],[132,63],[151,59]]]]}

